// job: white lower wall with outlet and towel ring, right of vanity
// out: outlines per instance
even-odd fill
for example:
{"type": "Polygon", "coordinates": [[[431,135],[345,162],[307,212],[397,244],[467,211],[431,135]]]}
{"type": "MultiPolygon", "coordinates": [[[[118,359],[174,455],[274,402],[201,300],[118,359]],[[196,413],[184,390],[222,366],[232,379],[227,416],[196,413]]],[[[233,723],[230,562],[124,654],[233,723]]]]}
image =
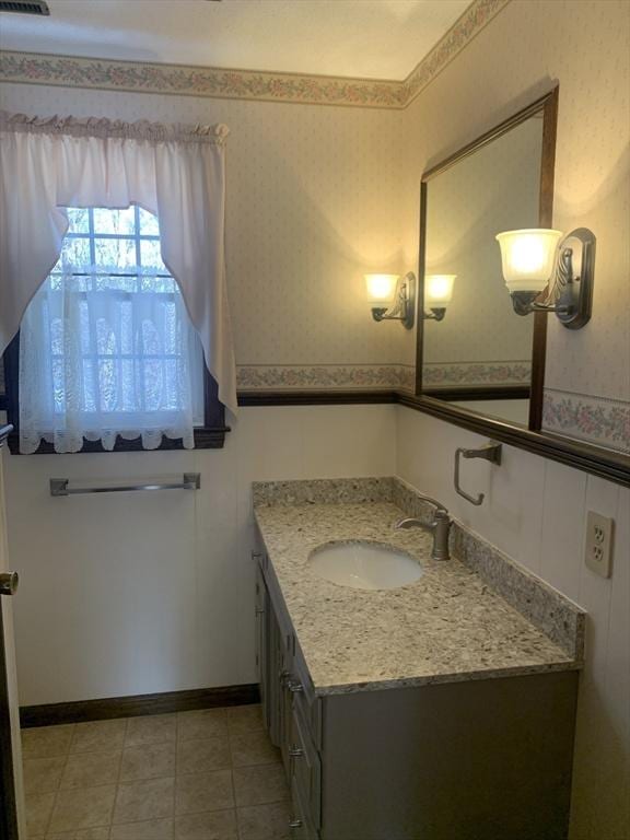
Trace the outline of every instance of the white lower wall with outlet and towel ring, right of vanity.
{"type": "Polygon", "coordinates": [[[475,508],[457,495],[457,446],[479,435],[399,407],[398,475],[443,501],[465,525],[587,610],[574,767],[572,840],[627,840],[630,762],[630,490],[503,446],[500,467],[464,462],[462,485],[485,492],[475,508]],[[583,562],[586,511],[615,518],[612,576],[583,562]]]}

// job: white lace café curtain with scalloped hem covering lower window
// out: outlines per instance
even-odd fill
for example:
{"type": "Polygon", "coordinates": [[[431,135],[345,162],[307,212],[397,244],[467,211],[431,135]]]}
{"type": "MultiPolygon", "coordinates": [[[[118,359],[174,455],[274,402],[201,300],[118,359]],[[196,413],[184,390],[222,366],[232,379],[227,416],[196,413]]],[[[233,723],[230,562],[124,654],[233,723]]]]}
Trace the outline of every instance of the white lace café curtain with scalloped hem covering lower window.
{"type": "Polygon", "coordinates": [[[113,450],[117,434],[162,435],[192,448],[202,422],[202,354],[182,294],[162,266],[63,262],[28,305],[20,331],[20,451],[40,440],[113,450]]]}

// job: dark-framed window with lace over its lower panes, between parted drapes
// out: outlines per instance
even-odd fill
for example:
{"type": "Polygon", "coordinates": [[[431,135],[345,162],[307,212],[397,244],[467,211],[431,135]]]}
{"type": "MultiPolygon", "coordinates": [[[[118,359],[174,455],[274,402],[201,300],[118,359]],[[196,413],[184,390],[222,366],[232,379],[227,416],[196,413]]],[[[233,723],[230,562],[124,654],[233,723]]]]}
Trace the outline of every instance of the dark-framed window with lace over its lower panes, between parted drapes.
{"type": "Polygon", "coordinates": [[[222,445],[223,407],[156,218],[137,206],[67,213],[59,260],[5,353],[20,451],[222,445]]]}

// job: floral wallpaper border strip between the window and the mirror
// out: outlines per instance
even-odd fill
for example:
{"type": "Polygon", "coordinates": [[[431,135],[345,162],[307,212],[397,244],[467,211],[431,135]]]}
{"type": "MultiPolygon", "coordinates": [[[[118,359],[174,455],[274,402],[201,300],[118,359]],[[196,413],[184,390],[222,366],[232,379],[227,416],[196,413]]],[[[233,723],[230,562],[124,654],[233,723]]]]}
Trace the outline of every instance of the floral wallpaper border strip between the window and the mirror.
{"type": "Polygon", "coordinates": [[[412,390],[415,372],[412,365],[401,364],[243,364],[236,368],[236,385],[242,390],[412,390]]]}

